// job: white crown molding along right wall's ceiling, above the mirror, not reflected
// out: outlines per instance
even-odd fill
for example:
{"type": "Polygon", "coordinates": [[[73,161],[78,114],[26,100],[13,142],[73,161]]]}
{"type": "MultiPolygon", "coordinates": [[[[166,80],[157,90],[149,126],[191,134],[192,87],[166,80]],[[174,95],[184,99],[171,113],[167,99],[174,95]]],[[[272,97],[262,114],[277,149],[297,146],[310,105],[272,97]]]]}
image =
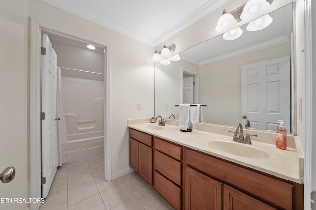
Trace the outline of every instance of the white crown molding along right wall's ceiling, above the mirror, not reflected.
{"type": "Polygon", "coordinates": [[[154,46],[158,46],[167,39],[171,38],[181,30],[184,30],[191,24],[195,23],[205,15],[208,15],[210,12],[214,11],[218,7],[224,5],[229,0],[210,0],[207,3],[205,3],[202,7],[198,8],[196,11],[191,13],[189,16],[187,16],[185,19],[180,21],[178,24],[176,24],[174,27],[170,28],[169,30],[162,33],[160,36],[158,36],[156,39],[154,39],[154,46]]]}

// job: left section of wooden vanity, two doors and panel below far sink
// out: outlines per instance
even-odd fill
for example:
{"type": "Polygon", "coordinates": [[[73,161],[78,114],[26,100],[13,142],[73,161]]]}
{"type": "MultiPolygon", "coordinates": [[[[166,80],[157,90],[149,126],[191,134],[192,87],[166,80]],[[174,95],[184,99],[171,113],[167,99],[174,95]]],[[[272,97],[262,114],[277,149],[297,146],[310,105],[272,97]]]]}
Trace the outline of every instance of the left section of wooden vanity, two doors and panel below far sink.
{"type": "Polygon", "coordinates": [[[129,129],[129,165],[147,183],[153,185],[152,136],[129,129]]]}

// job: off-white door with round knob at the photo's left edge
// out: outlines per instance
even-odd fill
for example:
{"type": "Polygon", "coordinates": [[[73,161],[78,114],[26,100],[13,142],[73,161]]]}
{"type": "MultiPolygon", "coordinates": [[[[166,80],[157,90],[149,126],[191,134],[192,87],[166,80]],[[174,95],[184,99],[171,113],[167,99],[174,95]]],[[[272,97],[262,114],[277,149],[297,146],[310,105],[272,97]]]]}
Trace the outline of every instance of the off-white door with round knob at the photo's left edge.
{"type": "Polygon", "coordinates": [[[2,15],[0,26],[0,173],[16,169],[14,180],[0,181],[0,210],[26,210],[14,202],[28,196],[25,26],[2,15]]]}

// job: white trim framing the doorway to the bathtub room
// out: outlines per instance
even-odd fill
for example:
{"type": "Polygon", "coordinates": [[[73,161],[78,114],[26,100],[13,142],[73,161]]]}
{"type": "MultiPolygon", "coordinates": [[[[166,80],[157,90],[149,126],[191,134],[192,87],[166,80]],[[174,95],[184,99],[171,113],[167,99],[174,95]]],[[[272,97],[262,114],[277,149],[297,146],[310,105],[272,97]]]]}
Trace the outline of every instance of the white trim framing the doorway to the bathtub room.
{"type": "MultiPolygon", "coordinates": [[[[40,155],[40,47],[41,47],[41,32],[46,31],[51,34],[57,34],[63,37],[77,39],[81,41],[90,41],[88,39],[80,38],[63,30],[55,30],[54,27],[47,23],[38,23],[31,18],[30,21],[30,197],[41,197],[41,155],[40,155]]],[[[97,45],[105,46],[107,49],[106,65],[104,75],[106,90],[106,116],[105,116],[105,136],[104,146],[106,149],[105,157],[105,177],[111,180],[111,150],[110,150],[110,44],[94,42],[97,45]]],[[[31,210],[38,210],[40,204],[31,203],[31,210]]]]}

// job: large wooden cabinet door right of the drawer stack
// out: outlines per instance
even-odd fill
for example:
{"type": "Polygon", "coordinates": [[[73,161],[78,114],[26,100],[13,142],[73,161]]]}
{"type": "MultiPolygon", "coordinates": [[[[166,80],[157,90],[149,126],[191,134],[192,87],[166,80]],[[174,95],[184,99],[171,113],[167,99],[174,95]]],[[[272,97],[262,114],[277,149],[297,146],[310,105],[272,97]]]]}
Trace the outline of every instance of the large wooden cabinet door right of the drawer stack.
{"type": "Polygon", "coordinates": [[[186,167],[185,209],[221,210],[223,184],[186,167]]]}

